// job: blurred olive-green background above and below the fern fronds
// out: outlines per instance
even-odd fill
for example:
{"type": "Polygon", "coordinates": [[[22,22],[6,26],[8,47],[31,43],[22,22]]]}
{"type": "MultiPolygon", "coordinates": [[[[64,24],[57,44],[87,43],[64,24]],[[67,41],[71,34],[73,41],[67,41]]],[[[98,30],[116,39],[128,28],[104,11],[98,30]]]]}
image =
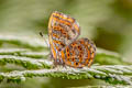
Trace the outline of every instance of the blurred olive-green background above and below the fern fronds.
{"type": "MultiPolygon", "coordinates": [[[[81,28],[79,37],[88,37],[98,47],[118,52],[132,62],[132,0],[0,0],[0,35],[42,38],[38,32],[47,34],[53,11],[75,18],[81,28]]],[[[62,88],[101,82],[92,81],[29,78],[19,85],[2,82],[0,87],[62,88]]]]}

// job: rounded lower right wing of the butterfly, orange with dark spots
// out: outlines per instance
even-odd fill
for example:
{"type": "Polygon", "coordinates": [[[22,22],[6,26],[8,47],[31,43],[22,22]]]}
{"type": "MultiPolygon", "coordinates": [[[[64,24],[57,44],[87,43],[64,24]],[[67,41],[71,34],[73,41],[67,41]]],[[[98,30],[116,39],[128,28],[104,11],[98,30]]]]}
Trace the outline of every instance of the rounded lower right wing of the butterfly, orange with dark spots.
{"type": "Polygon", "coordinates": [[[96,45],[88,38],[73,42],[61,52],[61,58],[72,67],[84,67],[92,64],[96,45]]]}

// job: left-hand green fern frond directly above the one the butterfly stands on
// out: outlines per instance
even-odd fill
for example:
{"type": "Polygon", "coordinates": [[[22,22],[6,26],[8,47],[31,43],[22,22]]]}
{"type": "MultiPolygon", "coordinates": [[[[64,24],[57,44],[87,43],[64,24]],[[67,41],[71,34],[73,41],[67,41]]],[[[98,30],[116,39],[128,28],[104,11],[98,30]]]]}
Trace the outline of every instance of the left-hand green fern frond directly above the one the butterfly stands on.
{"type": "Polygon", "coordinates": [[[36,68],[51,68],[52,62],[48,59],[33,59],[30,57],[20,57],[13,55],[0,55],[0,63],[2,64],[16,64],[24,68],[36,69],[36,68]]]}

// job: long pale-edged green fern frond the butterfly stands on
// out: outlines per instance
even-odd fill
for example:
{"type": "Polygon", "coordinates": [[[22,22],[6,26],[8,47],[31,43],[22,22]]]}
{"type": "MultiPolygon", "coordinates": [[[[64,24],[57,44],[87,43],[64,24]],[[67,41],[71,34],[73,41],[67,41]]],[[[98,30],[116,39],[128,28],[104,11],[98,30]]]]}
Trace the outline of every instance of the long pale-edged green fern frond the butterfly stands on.
{"type": "Polygon", "coordinates": [[[54,69],[37,69],[0,73],[0,80],[4,78],[8,81],[23,81],[28,77],[59,77],[66,79],[102,79],[110,84],[132,85],[132,65],[131,66],[91,66],[90,68],[64,68],[56,67],[54,69]]]}

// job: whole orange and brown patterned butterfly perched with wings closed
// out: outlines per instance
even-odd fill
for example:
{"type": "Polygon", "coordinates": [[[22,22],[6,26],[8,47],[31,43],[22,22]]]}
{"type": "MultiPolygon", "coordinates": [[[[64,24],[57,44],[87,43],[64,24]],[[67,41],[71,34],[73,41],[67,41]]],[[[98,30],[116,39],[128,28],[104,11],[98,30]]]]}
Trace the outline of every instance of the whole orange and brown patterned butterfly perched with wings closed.
{"type": "Polygon", "coordinates": [[[80,34],[78,22],[64,13],[53,12],[48,22],[48,40],[55,65],[72,67],[90,66],[96,45],[88,38],[77,37],[80,34]]]}

